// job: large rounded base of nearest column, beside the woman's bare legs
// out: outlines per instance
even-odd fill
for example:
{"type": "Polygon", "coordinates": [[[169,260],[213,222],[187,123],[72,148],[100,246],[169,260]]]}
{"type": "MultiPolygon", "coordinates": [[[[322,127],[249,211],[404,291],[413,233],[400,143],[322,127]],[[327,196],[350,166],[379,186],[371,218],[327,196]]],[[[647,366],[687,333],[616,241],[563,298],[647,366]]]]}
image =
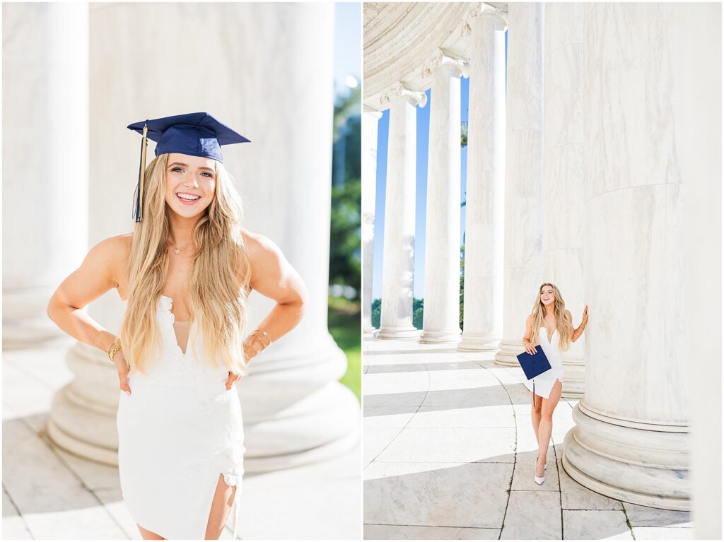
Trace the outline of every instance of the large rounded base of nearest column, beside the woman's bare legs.
{"type": "Polygon", "coordinates": [[[605,415],[592,418],[584,412],[584,401],[573,409],[576,426],[563,441],[563,467],[568,475],[613,499],[689,511],[686,426],[630,422],[605,415]]]}

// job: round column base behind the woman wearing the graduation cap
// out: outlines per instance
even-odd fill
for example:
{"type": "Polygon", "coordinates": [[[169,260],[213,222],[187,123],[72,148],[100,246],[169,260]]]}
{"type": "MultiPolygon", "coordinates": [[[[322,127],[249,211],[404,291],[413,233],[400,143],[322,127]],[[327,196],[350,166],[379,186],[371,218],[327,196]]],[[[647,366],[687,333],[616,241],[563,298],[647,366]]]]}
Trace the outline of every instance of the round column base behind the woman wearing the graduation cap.
{"type": "MultiPolygon", "coordinates": [[[[347,358],[331,336],[298,355],[264,360],[237,384],[244,413],[245,471],[262,473],[336,457],[357,443],[360,406],[337,380],[347,358]]],[[[69,452],[117,465],[118,376],[103,353],[75,344],[75,379],[56,393],[49,437],[69,452]]]]}

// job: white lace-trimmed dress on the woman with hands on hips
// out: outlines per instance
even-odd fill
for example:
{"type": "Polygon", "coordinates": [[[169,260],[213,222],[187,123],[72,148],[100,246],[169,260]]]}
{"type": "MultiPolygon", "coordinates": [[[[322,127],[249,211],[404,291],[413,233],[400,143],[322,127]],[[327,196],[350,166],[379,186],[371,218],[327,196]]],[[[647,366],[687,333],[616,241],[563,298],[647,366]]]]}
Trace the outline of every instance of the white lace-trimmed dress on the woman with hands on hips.
{"type": "Polygon", "coordinates": [[[161,350],[148,375],[128,377],[119,391],[118,469],[133,520],[167,539],[203,540],[219,474],[237,486],[227,522],[237,535],[243,475],[244,427],[236,386],[227,368],[203,356],[203,336],[189,329],[185,354],[174,333],[172,299],[161,296],[156,318],[161,350]],[[195,346],[195,352],[194,352],[195,346]]]}

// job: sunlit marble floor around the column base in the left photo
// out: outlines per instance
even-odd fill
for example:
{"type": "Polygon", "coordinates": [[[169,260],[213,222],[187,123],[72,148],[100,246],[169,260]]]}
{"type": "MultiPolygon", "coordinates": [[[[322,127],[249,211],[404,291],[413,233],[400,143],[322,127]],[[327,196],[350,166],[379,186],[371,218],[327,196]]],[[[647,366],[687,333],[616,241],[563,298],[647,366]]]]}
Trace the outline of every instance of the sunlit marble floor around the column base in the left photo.
{"type": "MultiPolygon", "coordinates": [[[[2,356],[2,538],[140,539],[116,467],[55,446],[51,399],[72,380],[65,347],[2,356]]],[[[359,539],[361,446],[334,460],[244,475],[237,535],[245,539],[359,539]]],[[[232,538],[228,526],[222,539],[232,538]]]]}

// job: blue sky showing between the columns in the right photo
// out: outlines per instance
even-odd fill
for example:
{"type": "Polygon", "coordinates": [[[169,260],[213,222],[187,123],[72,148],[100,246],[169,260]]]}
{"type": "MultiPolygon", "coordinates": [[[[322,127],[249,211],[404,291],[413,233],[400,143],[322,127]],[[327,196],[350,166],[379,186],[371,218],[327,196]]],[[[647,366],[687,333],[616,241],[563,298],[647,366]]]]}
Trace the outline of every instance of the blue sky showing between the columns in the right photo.
{"type": "MultiPolygon", "coordinates": [[[[505,63],[508,64],[508,33],[505,33],[505,63]]],[[[506,85],[508,70],[505,70],[506,85]]],[[[460,79],[460,112],[463,122],[468,122],[468,96],[470,81],[460,79]]],[[[427,194],[427,148],[430,126],[430,103],[434,100],[427,90],[427,104],[417,108],[417,184],[415,208],[415,273],[413,296],[424,297],[425,285],[425,211],[427,194]]],[[[372,256],[372,298],[382,297],[382,250],[384,247],[384,189],[387,185],[387,135],[390,127],[390,110],[382,113],[377,132],[377,186],[374,208],[374,254],[372,256]]],[[[463,201],[468,172],[468,148],[460,149],[460,202],[463,201]]],[[[465,208],[460,209],[460,240],[463,242],[465,208]]]]}

